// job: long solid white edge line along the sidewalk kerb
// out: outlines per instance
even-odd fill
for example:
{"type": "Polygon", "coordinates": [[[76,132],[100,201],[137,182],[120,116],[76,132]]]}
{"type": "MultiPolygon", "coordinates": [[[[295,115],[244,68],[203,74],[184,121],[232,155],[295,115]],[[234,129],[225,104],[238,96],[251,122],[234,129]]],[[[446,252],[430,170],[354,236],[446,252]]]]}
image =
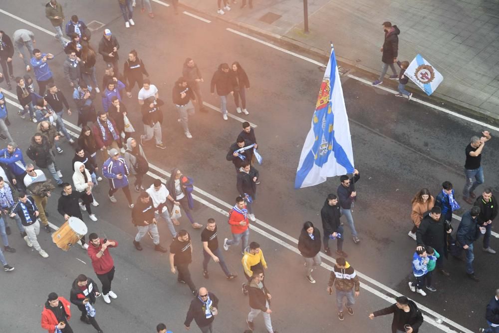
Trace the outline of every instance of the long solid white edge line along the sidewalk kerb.
{"type": "MultiPolygon", "coordinates": [[[[230,31],[230,32],[234,32],[234,33],[236,33],[236,34],[239,34],[240,36],[246,37],[246,38],[248,38],[248,39],[254,40],[254,41],[256,41],[256,42],[258,42],[258,43],[260,43],[260,44],[263,44],[263,45],[266,45],[266,46],[269,46],[269,47],[275,48],[276,50],[282,51],[282,52],[284,52],[284,53],[287,53],[287,54],[293,55],[293,56],[298,57],[298,58],[300,58],[300,59],[303,59],[303,60],[305,60],[305,61],[311,62],[311,63],[313,63],[313,64],[315,64],[315,65],[319,65],[319,66],[322,66],[322,67],[326,67],[326,65],[325,65],[325,64],[323,64],[323,63],[321,63],[321,62],[319,62],[319,61],[315,61],[315,60],[310,59],[310,58],[307,58],[306,56],[303,56],[303,55],[301,55],[301,54],[298,54],[298,53],[295,53],[295,52],[288,51],[288,50],[286,50],[285,48],[282,48],[282,47],[279,47],[279,46],[273,45],[273,44],[271,44],[271,43],[268,43],[268,42],[263,41],[263,40],[261,40],[261,39],[258,39],[258,38],[256,38],[256,37],[250,36],[250,35],[248,35],[248,34],[246,34],[246,33],[243,33],[243,32],[240,32],[240,31],[237,31],[237,30],[231,29],[231,28],[227,28],[226,30],[227,30],[227,31],[230,31]]],[[[368,80],[366,80],[366,79],[363,79],[363,78],[357,77],[357,76],[352,75],[352,74],[348,74],[347,76],[348,76],[348,77],[351,77],[351,78],[353,78],[354,80],[357,80],[357,81],[359,81],[359,82],[365,83],[366,85],[372,86],[371,82],[370,82],[370,81],[368,81],[368,80]]],[[[383,87],[383,86],[381,86],[381,85],[377,85],[377,86],[375,86],[375,87],[376,87],[376,88],[379,88],[379,89],[382,89],[382,90],[385,90],[385,91],[388,91],[388,92],[391,92],[391,93],[394,93],[394,94],[395,94],[395,93],[398,93],[398,91],[395,91],[395,90],[390,89],[390,88],[387,88],[387,87],[383,87]]],[[[441,106],[438,106],[438,105],[435,105],[435,104],[431,104],[431,103],[425,102],[425,101],[423,101],[423,100],[421,100],[421,99],[419,99],[419,98],[416,98],[416,97],[411,98],[411,100],[412,100],[412,101],[415,101],[415,102],[417,102],[417,103],[423,104],[423,105],[425,105],[425,106],[429,106],[429,107],[431,107],[431,108],[434,108],[434,109],[436,109],[436,110],[438,110],[438,111],[445,112],[445,113],[447,113],[447,114],[453,115],[453,116],[458,117],[458,118],[461,118],[461,119],[463,119],[463,120],[466,120],[466,121],[469,121],[469,122],[475,123],[475,124],[477,124],[477,125],[484,126],[484,127],[488,128],[488,129],[495,130],[495,131],[499,132],[499,127],[493,126],[493,125],[491,125],[491,124],[487,124],[487,123],[485,123],[485,122],[483,122],[483,121],[475,120],[475,119],[473,119],[473,118],[467,117],[467,116],[462,115],[462,114],[459,114],[459,113],[457,113],[457,112],[454,112],[454,111],[451,111],[451,110],[445,109],[445,108],[443,108],[443,107],[441,107],[441,106]]]]}

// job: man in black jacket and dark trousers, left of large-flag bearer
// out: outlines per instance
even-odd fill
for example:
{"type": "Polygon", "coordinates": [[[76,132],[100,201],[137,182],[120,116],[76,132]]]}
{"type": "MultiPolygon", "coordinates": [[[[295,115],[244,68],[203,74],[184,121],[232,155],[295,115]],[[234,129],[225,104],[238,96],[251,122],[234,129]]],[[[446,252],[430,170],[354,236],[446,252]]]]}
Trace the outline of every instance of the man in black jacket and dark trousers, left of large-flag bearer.
{"type": "Polygon", "coordinates": [[[324,232],[324,252],[330,256],[331,250],[329,249],[329,236],[336,239],[336,254],[343,258],[348,255],[343,252],[343,226],[340,222],[341,212],[338,205],[338,197],[330,193],[327,195],[324,206],[320,210],[320,218],[322,220],[322,230],[324,232]]]}

